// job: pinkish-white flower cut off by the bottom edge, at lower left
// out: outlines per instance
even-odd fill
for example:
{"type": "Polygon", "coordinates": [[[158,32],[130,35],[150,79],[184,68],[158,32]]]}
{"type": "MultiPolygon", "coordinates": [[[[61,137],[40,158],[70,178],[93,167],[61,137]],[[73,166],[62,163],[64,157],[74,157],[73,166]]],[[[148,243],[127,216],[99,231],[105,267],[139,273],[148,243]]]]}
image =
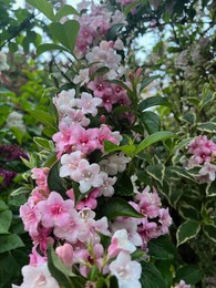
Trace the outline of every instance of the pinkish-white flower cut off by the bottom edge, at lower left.
{"type": "Polygon", "coordinates": [[[27,265],[22,268],[23,282],[21,286],[12,285],[12,288],[60,288],[56,280],[51,276],[48,264],[40,266],[27,265]]]}

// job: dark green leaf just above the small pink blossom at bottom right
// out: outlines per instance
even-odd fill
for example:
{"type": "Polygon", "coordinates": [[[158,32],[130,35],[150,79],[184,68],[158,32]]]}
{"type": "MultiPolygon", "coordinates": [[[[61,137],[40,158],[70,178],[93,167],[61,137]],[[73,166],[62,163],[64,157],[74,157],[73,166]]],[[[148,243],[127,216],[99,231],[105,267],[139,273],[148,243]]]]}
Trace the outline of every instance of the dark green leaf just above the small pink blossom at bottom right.
{"type": "Polygon", "coordinates": [[[203,274],[199,267],[195,265],[186,265],[177,269],[175,281],[179,282],[185,280],[186,284],[195,285],[203,278],[203,274]]]}

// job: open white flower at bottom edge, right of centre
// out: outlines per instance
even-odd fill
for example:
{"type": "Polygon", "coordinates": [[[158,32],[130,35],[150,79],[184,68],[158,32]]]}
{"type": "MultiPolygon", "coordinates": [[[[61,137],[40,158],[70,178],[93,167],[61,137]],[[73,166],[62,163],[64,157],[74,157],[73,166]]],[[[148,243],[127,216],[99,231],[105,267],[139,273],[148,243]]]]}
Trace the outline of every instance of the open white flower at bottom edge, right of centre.
{"type": "Polygon", "coordinates": [[[127,253],[121,251],[110,264],[110,270],[117,278],[119,288],[141,288],[141,264],[132,261],[127,253]]]}

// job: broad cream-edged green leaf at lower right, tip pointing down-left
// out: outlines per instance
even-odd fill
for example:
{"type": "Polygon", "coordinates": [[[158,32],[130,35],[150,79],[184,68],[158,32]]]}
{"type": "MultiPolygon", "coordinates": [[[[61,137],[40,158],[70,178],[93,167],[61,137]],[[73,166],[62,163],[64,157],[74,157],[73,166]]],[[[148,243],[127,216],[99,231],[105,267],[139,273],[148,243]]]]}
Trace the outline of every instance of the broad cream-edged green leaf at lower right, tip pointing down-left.
{"type": "Polygon", "coordinates": [[[196,220],[186,220],[177,229],[177,246],[194,238],[200,230],[200,223],[196,220]]]}

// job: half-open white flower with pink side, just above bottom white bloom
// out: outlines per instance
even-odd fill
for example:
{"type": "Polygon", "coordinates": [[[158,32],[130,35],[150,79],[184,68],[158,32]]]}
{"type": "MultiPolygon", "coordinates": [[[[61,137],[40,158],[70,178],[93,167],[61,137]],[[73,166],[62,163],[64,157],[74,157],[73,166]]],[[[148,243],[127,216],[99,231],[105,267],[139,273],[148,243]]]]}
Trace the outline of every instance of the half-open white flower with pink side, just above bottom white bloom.
{"type": "Polygon", "coordinates": [[[128,234],[125,229],[116,230],[112,237],[111,245],[107,248],[109,256],[115,257],[120,251],[133,253],[136,247],[128,240],[128,234]]]}

